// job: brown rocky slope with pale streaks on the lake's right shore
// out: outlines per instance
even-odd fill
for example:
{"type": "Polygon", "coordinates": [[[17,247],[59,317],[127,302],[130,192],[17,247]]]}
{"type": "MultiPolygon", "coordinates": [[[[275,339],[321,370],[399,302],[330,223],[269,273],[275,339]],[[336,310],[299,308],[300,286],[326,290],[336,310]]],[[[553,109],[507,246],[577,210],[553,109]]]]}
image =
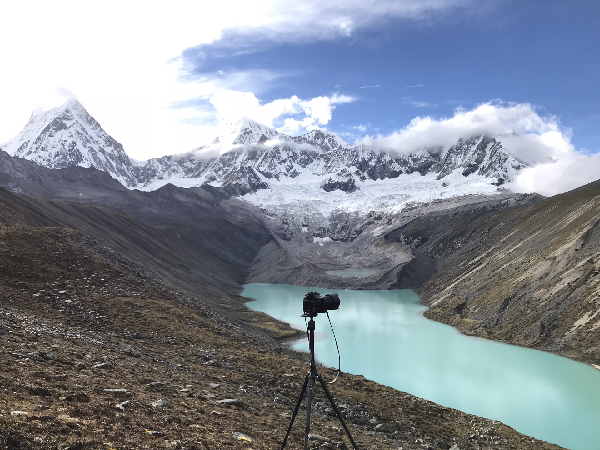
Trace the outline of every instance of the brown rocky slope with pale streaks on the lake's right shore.
{"type": "Polygon", "coordinates": [[[425,316],[600,365],[600,181],[505,209],[455,209],[388,239],[436,260],[425,316]]]}

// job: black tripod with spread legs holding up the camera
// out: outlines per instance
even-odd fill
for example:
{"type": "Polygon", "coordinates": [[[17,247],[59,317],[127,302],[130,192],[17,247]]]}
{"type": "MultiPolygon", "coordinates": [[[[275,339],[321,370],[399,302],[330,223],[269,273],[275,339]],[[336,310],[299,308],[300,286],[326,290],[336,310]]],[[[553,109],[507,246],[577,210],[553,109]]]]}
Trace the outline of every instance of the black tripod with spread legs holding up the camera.
{"type": "Polygon", "coordinates": [[[317,372],[317,365],[314,362],[314,320],[313,320],[314,316],[311,316],[309,314],[302,314],[302,317],[310,317],[310,320],[308,321],[308,326],[306,329],[307,334],[308,334],[308,349],[310,350],[310,372],[306,374],[306,378],[304,379],[304,386],[302,386],[302,391],[300,391],[300,397],[298,397],[298,403],[296,403],[296,407],[294,408],[294,412],[292,414],[292,419],[290,420],[290,425],[289,425],[289,427],[287,427],[286,437],[284,437],[283,442],[281,443],[281,450],[286,448],[287,438],[290,436],[290,432],[292,431],[292,425],[294,424],[294,419],[298,415],[298,410],[300,409],[300,404],[302,403],[302,398],[304,398],[304,392],[306,391],[307,386],[308,386],[308,400],[307,400],[307,407],[306,407],[306,425],[304,428],[304,450],[308,450],[308,433],[310,433],[310,408],[311,408],[311,403],[313,402],[313,386],[314,386],[315,380],[319,380],[319,383],[321,383],[321,386],[323,386],[323,391],[325,391],[325,395],[327,395],[327,398],[329,399],[329,403],[331,403],[331,406],[333,407],[333,409],[335,411],[335,415],[340,420],[341,426],[344,427],[344,430],[346,431],[346,434],[348,435],[348,439],[350,439],[350,442],[352,443],[352,446],[354,447],[354,449],[358,450],[358,446],[356,446],[356,442],[354,442],[354,439],[352,439],[352,434],[350,434],[350,430],[348,430],[346,422],[344,421],[344,418],[340,414],[340,410],[338,410],[338,407],[335,406],[334,398],[331,397],[331,394],[329,394],[329,389],[327,389],[327,384],[325,383],[325,381],[323,381],[323,377],[320,375],[320,373],[317,372]]]}

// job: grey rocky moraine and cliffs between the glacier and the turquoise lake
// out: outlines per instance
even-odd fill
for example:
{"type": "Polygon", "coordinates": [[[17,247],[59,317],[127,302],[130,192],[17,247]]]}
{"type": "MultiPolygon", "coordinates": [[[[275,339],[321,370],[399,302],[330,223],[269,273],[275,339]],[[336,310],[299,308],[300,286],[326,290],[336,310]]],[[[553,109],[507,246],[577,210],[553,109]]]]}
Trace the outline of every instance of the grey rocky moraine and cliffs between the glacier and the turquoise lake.
{"type": "Polygon", "coordinates": [[[433,231],[403,233],[407,224],[436,217],[443,232],[445,218],[457,212],[471,217],[481,211],[532,205],[543,198],[537,194],[463,196],[406,205],[394,214],[371,211],[362,217],[339,212],[326,223],[307,220],[311,217],[308,212],[300,217],[293,211],[283,217],[267,215],[265,226],[271,230],[272,238],[254,258],[248,281],[328,289],[415,289],[436,272],[435,255],[432,257],[421,248],[433,231]],[[327,273],[347,268],[370,268],[377,272],[362,277],[327,273]]]}

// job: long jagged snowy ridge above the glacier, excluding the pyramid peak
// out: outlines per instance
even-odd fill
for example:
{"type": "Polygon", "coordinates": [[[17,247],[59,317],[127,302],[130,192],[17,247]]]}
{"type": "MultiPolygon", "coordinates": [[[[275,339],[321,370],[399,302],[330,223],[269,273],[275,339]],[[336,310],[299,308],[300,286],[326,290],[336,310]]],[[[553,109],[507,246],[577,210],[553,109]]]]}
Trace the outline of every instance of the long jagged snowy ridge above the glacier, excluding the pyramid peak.
{"type": "MultiPolygon", "coordinates": [[[[248,136],[247,130],[241,131],[242,136],[248,136]]],[[[274,133],[274,139],[265,139],[264,133],[254,134],[254,142],[247,140],[245,145],[212,158],[203,157],[201,151],[199,155],[151,160],[142,167],[138,188],[152,189],[166,182],[185,186],[234,183],[237,193],[243,195],[256,191],[253,186],[264,188],[273,182],[317,176],[322,178],[323,190],[353,192],[367,179],[392,179],[413,172],[435,173],[437,179],[442,179],[455,170],[463,176],[476,174],[488,178],[490,184],[501,185],[524,167],[503,149],[502,143],[483,135],[461,139],[448,149],[418,149],[406,154],[346,143],[329,148],[330,143],[338,142],[322,139],[323,134],[313,139],[314,132],[292,138],[274,133]]],[[[209,154],[210,150],[204,151],[209,154]]]]}

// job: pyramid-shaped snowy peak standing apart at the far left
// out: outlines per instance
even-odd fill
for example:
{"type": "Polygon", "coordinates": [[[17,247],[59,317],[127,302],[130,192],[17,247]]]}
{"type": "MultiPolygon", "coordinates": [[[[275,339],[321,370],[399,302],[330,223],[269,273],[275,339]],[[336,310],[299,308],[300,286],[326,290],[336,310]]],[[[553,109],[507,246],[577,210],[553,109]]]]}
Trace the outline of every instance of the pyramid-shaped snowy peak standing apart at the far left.
{"type": "Polygon", "coordinates": [[[0,148],[50,169],[94,166],[126,186],[136,184],[135,171],[123,146],[74,98],[44,113],[32,114],[25,128],[0,148]]]}

